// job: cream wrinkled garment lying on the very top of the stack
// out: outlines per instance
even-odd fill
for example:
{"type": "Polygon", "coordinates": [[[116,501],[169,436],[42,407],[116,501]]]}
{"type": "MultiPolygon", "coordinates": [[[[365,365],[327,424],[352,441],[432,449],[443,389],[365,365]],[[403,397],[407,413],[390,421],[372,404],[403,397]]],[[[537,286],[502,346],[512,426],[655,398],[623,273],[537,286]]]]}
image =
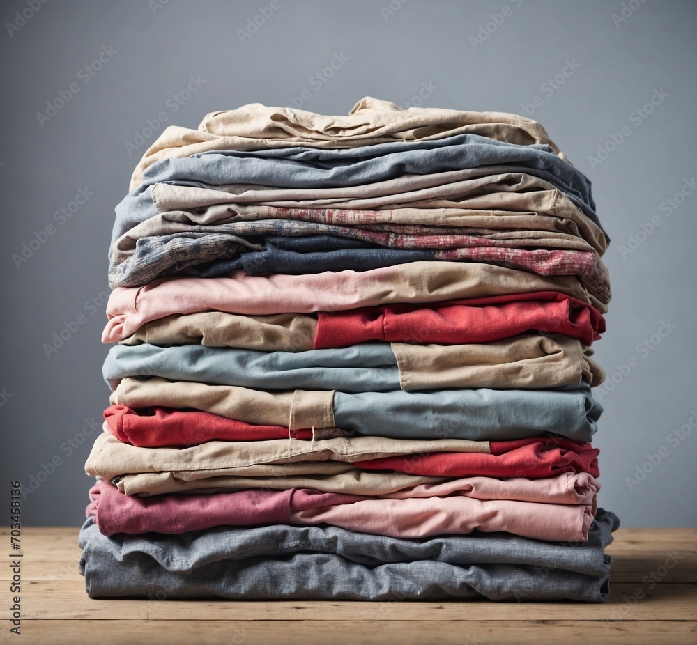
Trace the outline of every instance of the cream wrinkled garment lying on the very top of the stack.
{"type": "Polygon", "coordinates": [[[206,114],[198,130],[167,127],[136,166],[129,190],[141,184],[143,172],[151,164],[167,157],[190,157],[208,150],[355,148],[375,143],[443,139],[465,133],[522,146],[546,143],[568,161],[542,125],[517,114],[423,107],[404,110],[369,96],[358,101],[347,116],[325,116],[250,103],[238,109],[206,114]]]}

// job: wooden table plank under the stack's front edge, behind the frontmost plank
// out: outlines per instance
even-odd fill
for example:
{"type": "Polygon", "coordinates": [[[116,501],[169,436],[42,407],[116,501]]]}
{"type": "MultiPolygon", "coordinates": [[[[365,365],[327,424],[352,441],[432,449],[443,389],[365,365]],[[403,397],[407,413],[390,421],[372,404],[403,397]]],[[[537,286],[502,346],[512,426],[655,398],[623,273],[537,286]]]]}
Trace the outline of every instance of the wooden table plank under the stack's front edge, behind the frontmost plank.
{"type": "MultiPolygon", "coordinates": [[[[445,603],[361,603],[353,601],[259,600],[129,600],[91,599],[84,582],[36,582],[24,586],[25,619],[112,619],[170,621],[420,621],[438,615],[444,621],[508,620],[684,620],[697,621],[697,585],[661,584],[634,600],[637,587],[613,584],[602,605],[587,603],[491,603],[463,600],[445,603]]],[[[9,605],[0,607],[0,619],[9,619],[9,605]]]]}

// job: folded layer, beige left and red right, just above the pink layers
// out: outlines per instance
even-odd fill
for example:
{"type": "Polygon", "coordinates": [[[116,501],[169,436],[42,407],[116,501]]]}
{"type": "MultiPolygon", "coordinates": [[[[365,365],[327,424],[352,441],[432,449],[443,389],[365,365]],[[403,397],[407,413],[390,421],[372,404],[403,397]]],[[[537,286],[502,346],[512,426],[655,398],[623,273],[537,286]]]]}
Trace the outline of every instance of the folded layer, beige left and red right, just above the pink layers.
{"type": "Polygon", "coordinates": [[[264,474],[267,466],[294,463],[301,464],[305,473],[321,474],[326,472],[323,462],[339,462],[358,469],[425,476],[539,479],[586,472],[597,477],[598,452],[588,443],[562,437],[507,442],[336,437],[312,442],[289,439],[207,442],[184,449],[139,448],[106,432],[95,440],[85,472],[107,481],[129,473],[169,472],[174,479],[187,481],[235,474],[254,476],[255,472],[264,474]]]}

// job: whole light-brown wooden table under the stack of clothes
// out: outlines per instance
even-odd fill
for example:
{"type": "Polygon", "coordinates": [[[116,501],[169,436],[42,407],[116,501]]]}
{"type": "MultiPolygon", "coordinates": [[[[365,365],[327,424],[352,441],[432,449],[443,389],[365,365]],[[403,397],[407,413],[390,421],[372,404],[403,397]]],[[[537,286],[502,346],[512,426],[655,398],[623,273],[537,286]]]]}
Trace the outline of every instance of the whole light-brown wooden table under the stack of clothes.
{"type": "MultiPolygon", "coordinates": [[[[10,544],[9,529],[0,539],[10,544]]],[[[9,632],[8,548],[0,645],[697,643],[697,529],[619,529],[604,605],[91,600],[77,572],[77,529],[26,527],[21,546],[21,635],[9,632]]]]}

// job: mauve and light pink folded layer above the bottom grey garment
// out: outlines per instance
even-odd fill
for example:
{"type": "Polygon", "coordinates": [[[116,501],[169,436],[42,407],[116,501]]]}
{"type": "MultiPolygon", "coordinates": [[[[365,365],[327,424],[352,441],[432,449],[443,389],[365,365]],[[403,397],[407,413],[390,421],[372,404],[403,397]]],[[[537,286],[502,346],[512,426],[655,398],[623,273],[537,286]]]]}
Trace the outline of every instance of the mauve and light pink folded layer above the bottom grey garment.
{"type": "Polygon", "coordinates": [[[106,482],[90,490],[86,515],[102,534],[179,534],[215,526],[332,524],[398,538],[507,531],[540,540],[585,541],[599,484],[585,473],[544,480],[470,477],[362,497],[310,488],[215,495],[123,495],[106,482]]]}

